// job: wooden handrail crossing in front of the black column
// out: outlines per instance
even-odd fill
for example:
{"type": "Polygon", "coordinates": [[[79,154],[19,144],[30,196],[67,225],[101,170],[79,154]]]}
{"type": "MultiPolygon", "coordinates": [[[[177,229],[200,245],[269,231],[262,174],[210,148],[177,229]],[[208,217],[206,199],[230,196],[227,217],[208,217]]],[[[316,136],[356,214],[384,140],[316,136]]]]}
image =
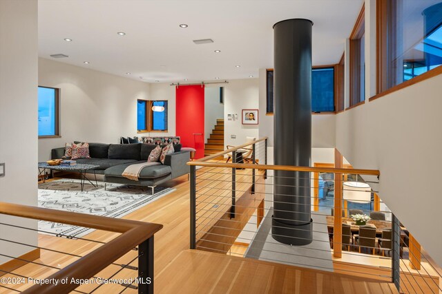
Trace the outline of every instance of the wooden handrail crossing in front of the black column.
{"type": "Polygon", "coordinates": [[[277,171],[309,171],[321,173],[338,174],[359,174],[367,176],[379,176],[381,174],[377,169],[336,169],[334,167],[294,167],[291,165],[253,165],[249,163],[224,163],[224,162],[201,162],[193,160],[187,162],[187,165],[198,167],[236,167],[238,169],[271,169],[277,171]]]}

